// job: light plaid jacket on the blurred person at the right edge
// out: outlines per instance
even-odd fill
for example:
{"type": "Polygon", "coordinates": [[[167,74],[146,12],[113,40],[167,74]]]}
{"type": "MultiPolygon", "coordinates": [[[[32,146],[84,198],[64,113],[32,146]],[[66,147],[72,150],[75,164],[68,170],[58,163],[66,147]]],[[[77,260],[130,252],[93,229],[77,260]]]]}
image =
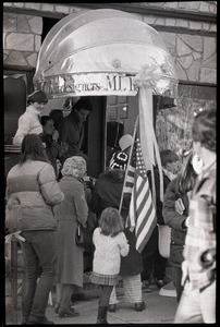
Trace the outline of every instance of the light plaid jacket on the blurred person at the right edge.
{"type": "Polygon", "coordinates": [[[198,178],[190,201],[190,226],[183,252],[193,289],[216,278],[216,166],[198,178]]]}

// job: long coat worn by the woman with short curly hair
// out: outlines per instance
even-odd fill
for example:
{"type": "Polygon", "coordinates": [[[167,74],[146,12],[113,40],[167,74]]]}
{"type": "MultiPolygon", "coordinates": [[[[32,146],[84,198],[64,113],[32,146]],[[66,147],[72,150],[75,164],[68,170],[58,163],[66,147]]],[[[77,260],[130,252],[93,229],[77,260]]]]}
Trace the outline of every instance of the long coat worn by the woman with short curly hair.
{"type": "Polygon", "coordinates": [[[57,282],[71,283],[83,287],[83,253],[84,249],[75,243],[77,221],[85,225],[88,207],[82,182],[71,175],[64,175],[59,181],[64,193],[64,201],[54,207],[58,219],[57,252],[58,274],[57,282]]]}

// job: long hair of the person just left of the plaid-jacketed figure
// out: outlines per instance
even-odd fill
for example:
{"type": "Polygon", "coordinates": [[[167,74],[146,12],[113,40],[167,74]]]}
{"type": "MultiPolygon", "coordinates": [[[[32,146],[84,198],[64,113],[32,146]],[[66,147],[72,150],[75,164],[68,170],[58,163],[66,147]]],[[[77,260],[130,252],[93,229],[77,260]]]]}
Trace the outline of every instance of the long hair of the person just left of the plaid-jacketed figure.
{"type": "Polygon", "coordinates": [[[193,190],[195,185],[195,181],[197,178],[197,174],[193,168],[192,159],[193,159],[194,153],[191,152],[187,157],[185,158],[185,161],[182,166],[182,169],[179,173],[179,191],[183,194],[187,193],[188,191],[193,190]]]}

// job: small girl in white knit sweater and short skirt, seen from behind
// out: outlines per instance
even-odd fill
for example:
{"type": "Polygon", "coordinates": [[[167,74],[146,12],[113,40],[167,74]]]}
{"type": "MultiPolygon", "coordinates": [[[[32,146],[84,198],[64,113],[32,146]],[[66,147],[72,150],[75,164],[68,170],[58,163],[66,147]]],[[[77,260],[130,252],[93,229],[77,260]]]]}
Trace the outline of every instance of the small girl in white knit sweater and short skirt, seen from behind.
{"type": "Polygon", "coordinates": [[[119,280],[121,256],[126,256],[130,251],[123,230],[119,210],[108,207],[101,213],[99,227],[94,231],[93,242],[96,249],[90,280],[101,287],[96,324],[108,324],[108,304],[111,291],[119,280]]]}

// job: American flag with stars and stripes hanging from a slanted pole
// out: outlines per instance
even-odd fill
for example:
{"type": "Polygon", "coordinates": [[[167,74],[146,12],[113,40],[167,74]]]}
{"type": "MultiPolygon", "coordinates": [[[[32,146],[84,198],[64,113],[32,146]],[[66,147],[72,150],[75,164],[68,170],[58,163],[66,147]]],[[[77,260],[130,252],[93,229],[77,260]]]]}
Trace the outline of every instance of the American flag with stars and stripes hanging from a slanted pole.
{"type": "Polygon", "coordinates": [[[157,218],[138,137],[124,182],[123,194],[129,193],[132,197],[126,227],[135,228],[136,250],[140,253],[156,227],[157,218]]]}

